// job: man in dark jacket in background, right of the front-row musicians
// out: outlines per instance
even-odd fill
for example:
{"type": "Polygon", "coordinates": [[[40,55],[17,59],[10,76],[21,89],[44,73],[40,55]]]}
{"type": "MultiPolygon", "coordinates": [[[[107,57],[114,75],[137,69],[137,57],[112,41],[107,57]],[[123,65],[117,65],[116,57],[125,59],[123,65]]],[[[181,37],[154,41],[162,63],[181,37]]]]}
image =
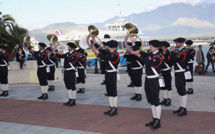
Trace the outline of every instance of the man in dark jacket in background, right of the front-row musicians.
{"type": "Polygon", "coordinates": [[[205,74],[205,57],[202,51],[202,45],[199,45],[199,50],[197,51],[196,55],[196,62],[199,65],[202,65],[202,74],[205,74]]]}

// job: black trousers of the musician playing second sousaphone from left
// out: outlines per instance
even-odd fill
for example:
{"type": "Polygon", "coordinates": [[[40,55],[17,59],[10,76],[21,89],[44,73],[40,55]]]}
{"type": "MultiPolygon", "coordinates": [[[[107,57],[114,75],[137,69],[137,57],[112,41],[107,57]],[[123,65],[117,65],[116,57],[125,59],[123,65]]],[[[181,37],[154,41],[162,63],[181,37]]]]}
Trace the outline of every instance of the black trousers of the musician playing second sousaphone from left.
{"type": "Polygon", "coordinates": [[[70,89],[72,89],[72,91],[76,90],[75,78],[76,78],[75,70],[64,71],[64,83],[66,85],[67,90],[70,90],[70,89]]]}

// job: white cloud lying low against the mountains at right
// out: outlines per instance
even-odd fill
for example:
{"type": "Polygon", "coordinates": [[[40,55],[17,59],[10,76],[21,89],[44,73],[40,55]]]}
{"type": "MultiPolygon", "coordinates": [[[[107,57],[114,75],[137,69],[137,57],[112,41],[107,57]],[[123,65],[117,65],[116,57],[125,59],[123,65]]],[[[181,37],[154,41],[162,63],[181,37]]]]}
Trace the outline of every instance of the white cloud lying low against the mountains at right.
{"type": "Polygon", "coordinates": [[[170,24],[170,26],[191,26],[191,27],[195,27],[195,28],[199,28],[199,27],[215,28],[214,24],[211,24],[208,21],[201,21],[196,18],[179,18],[178,20],[176,20],[175,22],[170,24]]]}

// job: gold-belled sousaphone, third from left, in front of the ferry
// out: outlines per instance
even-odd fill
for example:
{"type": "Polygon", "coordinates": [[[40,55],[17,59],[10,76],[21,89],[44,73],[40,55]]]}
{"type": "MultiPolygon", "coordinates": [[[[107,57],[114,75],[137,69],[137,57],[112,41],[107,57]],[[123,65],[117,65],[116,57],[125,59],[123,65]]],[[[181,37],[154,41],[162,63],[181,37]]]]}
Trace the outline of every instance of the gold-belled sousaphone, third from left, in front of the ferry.
{"type": "MultiPolygon", "coordinates": [[[[95,27],[95,26],[93,26],[93,25],[90,25],[89,27],[88,27],[88,31],[89,31],[89,35],[87,36],[87,38],[86,38],[86,42],[87,42],[87,44],[88,44],[88,46],[90,47],[90,48],[92,48],[92,45],[90,44],[90,37],[93,35],[93,36],[95,36],[98,40],[99,40],[99,48],[98,49],[100,49],[101,48],[101,46],[102,46],[102,42],[101,42],[101,39],[99,38],[99,37],[97,37],[98,35],[99,35],[99,30],[95,27]]],[[[81,47],[81,46],[80,46],[81,47]]]]}

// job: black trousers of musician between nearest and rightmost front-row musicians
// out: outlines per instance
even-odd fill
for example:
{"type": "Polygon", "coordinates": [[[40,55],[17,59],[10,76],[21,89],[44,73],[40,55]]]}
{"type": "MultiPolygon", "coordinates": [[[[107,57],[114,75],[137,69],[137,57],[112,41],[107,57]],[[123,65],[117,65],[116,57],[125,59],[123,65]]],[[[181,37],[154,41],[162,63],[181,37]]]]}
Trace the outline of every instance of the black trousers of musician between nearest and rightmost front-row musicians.
{"type": "Polygon", "coordinates": [[[164,78],[165,87],[162,87],[162,90],[172,90],[172,76],[171,76],[171,70],[169,71],[163,71],[162,76],[164,78]]]}

